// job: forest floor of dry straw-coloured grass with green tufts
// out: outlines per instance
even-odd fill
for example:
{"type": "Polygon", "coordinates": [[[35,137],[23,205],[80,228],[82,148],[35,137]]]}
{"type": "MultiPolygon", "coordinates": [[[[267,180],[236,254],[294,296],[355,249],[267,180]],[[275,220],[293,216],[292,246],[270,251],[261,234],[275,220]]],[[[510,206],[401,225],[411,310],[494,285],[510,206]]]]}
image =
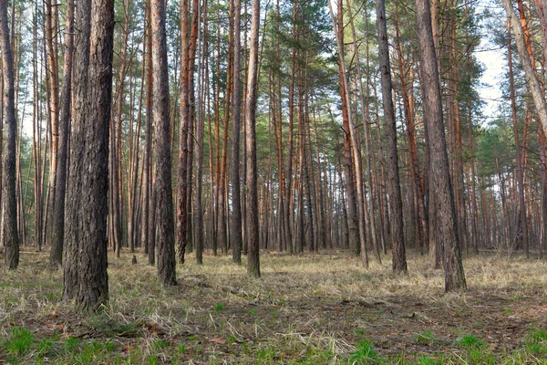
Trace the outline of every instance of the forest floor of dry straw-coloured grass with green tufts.
{"type": "Polygon", "coordinates": [[[445,294],[442,270],[414,253],[398,276],[390,257],[366,270],[346,252],[263,251],[260,279],[190,255],[169,288],[131,257],[110,255],[109,306],[92,316],[61,300],[46,253],[0,266],[0,364],[547,364],[545,261],[467,257],[469,290],[445,294]]]}

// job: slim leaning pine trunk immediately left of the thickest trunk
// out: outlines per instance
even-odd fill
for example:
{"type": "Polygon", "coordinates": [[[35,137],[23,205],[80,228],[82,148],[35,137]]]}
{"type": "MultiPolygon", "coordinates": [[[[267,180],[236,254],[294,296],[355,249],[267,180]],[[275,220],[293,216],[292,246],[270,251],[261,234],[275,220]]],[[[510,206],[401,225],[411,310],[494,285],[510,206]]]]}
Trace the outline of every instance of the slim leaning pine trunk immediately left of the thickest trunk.
{"type": "Polygon", "coordinates": [[[65,62],[63,84],[61,85],[61,108],[57,150],[57,179],[55,180],[55,203],[49,262],[60,266],[63,259],[63,236],[65,235],[65,196],[67,193],[67,152],[72,101],[72,58],[74,55],[74,0],[67,1],[67,25],[65,36],[65,62]]]}

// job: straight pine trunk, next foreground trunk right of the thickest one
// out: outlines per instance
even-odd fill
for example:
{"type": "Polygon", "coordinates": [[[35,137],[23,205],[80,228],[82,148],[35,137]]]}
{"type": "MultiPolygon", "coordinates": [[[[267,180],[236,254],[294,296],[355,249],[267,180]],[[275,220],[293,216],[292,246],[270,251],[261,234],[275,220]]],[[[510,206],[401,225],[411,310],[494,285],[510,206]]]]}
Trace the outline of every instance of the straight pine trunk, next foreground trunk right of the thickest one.
{"type": "Polygon", "coordinates": [[[177,284],[175,272],[175,237],[171,187],[171,154],[169,122],[169,74],[167,69],[167,34],[165,2],[152,0],[152,70],[153,120],[156,151],[156,243],[158,245],[158,276],[165,286],[177,284]]]}

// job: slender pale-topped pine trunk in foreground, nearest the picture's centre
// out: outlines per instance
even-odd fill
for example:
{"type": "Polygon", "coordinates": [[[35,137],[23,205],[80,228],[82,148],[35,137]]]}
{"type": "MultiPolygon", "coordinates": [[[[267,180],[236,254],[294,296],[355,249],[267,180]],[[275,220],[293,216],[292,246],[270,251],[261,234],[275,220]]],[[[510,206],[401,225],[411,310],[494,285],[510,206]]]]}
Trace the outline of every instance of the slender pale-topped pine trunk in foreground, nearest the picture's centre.
{"type": "Polygon", "coordinates": [[[258,91],[258,29],[260,23],[260,0],[253,0],[251,23],[251,45],[249,70],[247,73],[247,96],[245,100],[245,127],[247,135],[247,274],[260,277],[259,231],[258,231],[258,191],[256,169],[256,99],[258,91]]]}

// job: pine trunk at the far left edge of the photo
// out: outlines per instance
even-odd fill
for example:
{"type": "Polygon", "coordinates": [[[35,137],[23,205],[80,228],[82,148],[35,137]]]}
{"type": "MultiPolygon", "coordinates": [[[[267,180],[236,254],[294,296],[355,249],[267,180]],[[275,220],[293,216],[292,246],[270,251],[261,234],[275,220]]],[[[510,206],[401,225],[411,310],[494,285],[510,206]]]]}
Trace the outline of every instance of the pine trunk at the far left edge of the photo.
{"type": "Polygon", "coordinates": [[[19,235],[17,233],[17,202],[15,199],[15,83],[14,60],[7,24],[7,0],[0,0],[0,47],[4,77],[3,110],[5,151],[2,175],[2,243],[5,246],[5,266],[15,270],[19,265],[19,235]]]}

